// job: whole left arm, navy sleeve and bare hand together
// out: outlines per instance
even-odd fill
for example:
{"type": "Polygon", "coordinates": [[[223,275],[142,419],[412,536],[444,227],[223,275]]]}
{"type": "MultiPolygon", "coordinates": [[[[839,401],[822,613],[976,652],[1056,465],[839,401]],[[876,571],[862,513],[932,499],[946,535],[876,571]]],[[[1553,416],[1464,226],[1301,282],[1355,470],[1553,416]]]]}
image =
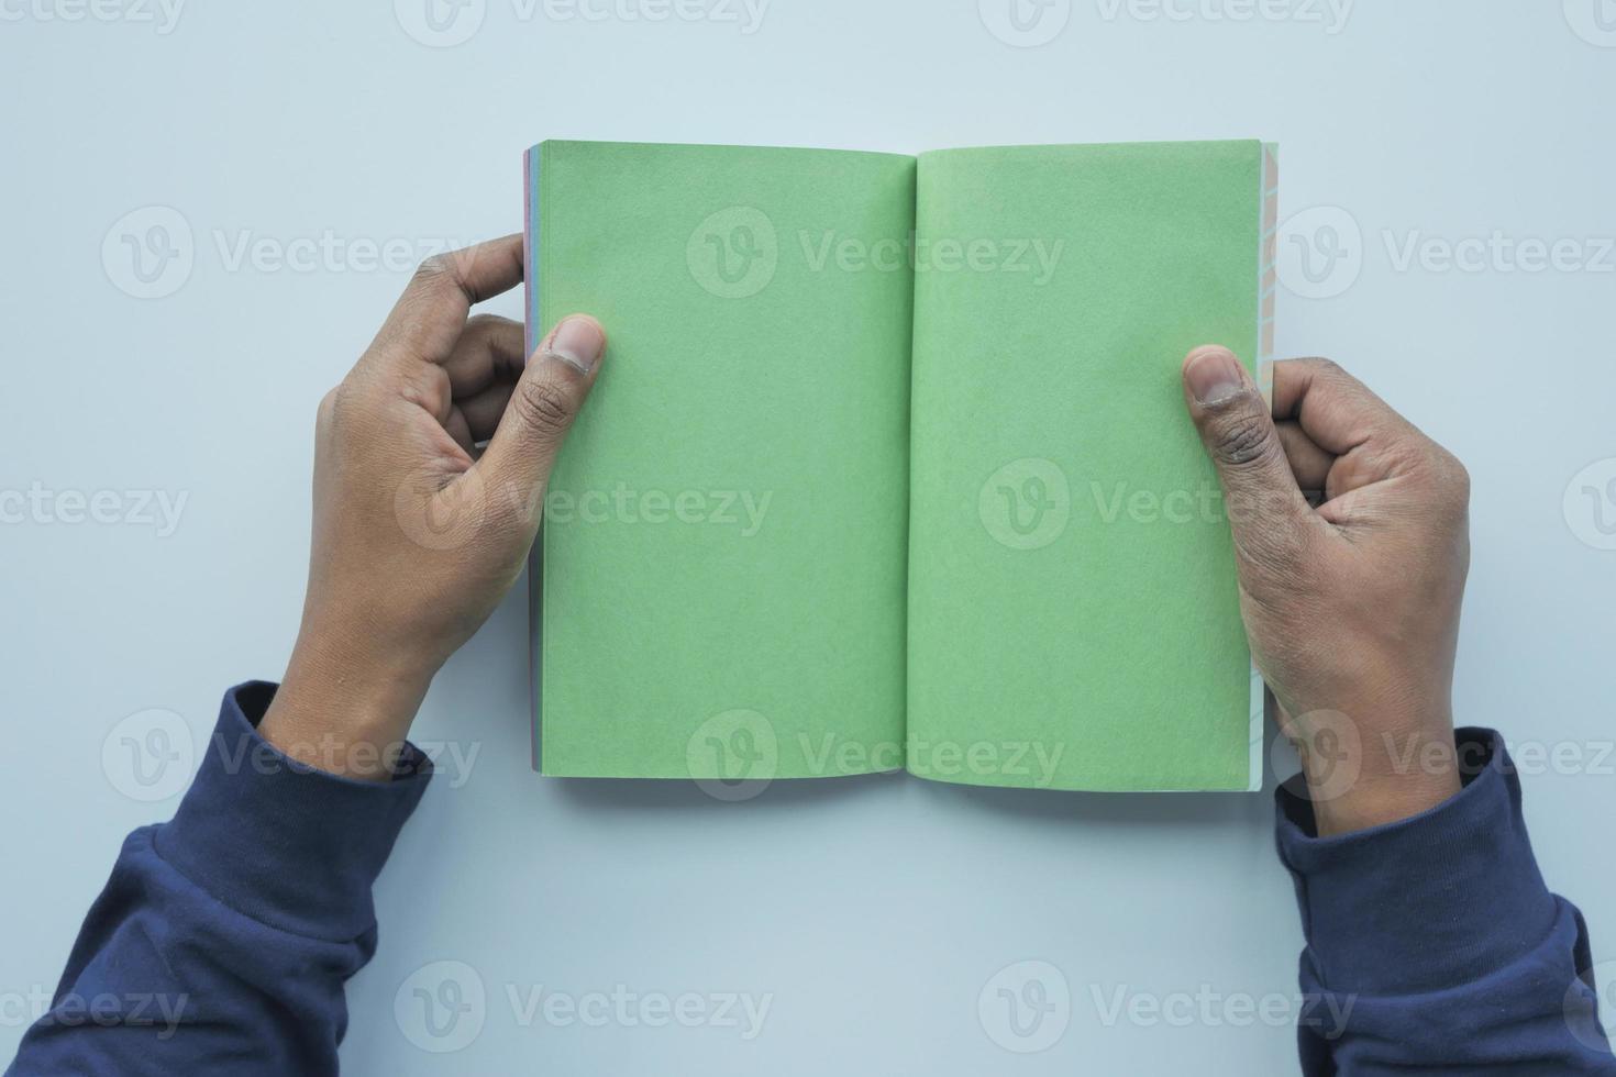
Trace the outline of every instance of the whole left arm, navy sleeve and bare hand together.
{"type": "Polygon", "coordinates": [[[520,575],[606,349],[585,315],[533,355],[520,323],[470,316],[520,281],[520,236],[427,260],[320,402],[286,683],[226,698],[175,820],[126,843],[15,1072],[336,1071],[343,982],[375,949],[370,886],[430,772],[404,736],[520,575]],[[137,1001],[154,996],[157,1024],[137,1001]],[[121,1001],[73,1012],[97,998],[121,1001]]]}

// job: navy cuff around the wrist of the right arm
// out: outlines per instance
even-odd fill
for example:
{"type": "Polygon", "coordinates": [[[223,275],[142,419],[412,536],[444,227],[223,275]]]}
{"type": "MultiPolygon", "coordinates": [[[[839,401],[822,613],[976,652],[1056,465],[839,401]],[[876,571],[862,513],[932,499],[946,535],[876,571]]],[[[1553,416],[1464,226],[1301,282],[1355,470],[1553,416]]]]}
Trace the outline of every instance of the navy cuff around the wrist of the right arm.
{"type": "Polygon", "coordinates": [[[1314,836],[1312,806],[1275,793],[1280,859],[1296,883],[1317,982],[1401,995],[1477,980],[1555,927],[1521,817],[1521,782],[1493,730],[1456,733],[1464,788],[1419,815],[1314,836]]]}

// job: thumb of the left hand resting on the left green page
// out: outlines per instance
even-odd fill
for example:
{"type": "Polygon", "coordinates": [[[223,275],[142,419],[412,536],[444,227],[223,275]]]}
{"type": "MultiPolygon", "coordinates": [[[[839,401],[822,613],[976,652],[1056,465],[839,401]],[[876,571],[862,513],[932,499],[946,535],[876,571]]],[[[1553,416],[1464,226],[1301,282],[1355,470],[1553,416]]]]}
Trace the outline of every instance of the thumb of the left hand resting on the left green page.
{"type": "MultiPolygon", "coordinates": [[[[499,426],[477,463],[485,484],[512,502],[543,504],[556,452],[600,373],[606,331],[588,315],[569,315],[538,346],[511,392],[499,426]]],[[[530,526],[538,526],[537,515],[530,526]]]]}

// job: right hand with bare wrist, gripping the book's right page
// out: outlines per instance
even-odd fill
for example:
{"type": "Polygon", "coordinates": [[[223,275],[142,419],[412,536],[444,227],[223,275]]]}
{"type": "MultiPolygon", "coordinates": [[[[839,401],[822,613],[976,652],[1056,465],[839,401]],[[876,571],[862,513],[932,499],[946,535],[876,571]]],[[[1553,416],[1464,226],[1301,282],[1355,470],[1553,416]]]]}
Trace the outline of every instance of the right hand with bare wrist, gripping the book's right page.
{"type": "Polygon", "coordinates": [[[1183,381],[1223,483],[1251,651],[1319,833],[1448,799],[1464,467],[1328,360],[1275,363],[1272,415],[1223,347],[1193,350],[1183,381]]]}

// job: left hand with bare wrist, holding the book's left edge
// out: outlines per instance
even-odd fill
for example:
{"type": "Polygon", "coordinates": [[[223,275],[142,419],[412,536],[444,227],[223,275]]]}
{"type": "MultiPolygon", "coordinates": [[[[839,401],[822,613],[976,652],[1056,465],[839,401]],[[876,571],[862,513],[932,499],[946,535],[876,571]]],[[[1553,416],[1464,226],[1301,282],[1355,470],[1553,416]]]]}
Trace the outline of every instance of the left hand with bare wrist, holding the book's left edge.
{"type": "Polygon", "coordinates": [[[520,281],[520,236],[430,258],[320,402],[302,627],[259,725],[294,759],[386,780],[431,677],[522,572],[606,336],[572,315],[525,357],[519,323],[467,320],[520,281]]]}

